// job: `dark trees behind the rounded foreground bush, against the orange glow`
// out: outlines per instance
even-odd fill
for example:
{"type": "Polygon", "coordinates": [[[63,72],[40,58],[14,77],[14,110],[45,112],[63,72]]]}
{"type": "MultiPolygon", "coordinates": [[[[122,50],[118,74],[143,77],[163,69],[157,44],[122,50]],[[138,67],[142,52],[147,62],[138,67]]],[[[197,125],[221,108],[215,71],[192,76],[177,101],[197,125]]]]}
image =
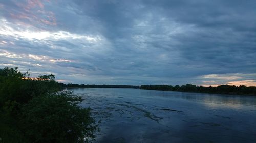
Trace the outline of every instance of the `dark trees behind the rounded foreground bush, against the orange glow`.
{"type": "Polygon", "coordinates": [[[22,74],[17,67],[0,69],[0,107],[9,100],[27,103],[35,96],[57,92],[60,86],[53,77],[49,75],[51,80],[30,80],[28,71],[22,74]]]}

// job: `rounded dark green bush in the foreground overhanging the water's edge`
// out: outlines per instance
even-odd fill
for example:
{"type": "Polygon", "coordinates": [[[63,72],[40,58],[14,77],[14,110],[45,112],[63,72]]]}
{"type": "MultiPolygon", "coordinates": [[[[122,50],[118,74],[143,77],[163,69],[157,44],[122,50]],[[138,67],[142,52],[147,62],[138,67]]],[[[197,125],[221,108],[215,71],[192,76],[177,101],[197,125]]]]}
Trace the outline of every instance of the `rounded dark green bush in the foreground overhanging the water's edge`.
{"type": "Polygon", "coordinates": [[[94,138],[97,126],[90,109],[79,98],[49,94],[33,98],[22,108],[24,131],[31,142],[84,142],[94,138]]]}

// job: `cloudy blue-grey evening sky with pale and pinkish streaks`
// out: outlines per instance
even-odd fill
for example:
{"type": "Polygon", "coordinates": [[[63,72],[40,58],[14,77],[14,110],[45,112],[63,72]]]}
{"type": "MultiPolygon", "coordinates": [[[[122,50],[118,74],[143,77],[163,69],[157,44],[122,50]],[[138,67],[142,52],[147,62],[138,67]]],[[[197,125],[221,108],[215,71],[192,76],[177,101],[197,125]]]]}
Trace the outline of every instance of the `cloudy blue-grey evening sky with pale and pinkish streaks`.
{"type": "Polygon", "coordinates": [[[256,86],[256,1],[0,0],[0,68],[62,83],[256,86]]]}

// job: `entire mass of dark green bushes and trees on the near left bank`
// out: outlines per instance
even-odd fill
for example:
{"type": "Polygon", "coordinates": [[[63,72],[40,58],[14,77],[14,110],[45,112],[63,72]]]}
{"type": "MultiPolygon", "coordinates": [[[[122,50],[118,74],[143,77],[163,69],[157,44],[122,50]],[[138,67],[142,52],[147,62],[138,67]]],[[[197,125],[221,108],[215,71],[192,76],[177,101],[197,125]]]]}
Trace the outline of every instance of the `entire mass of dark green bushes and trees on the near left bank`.
{"type": "Polygon", "coordinates": [[[98,127],[81,97],[60,92],[54,75],[0,69],[0,142],[89,142],[98,127]]]}

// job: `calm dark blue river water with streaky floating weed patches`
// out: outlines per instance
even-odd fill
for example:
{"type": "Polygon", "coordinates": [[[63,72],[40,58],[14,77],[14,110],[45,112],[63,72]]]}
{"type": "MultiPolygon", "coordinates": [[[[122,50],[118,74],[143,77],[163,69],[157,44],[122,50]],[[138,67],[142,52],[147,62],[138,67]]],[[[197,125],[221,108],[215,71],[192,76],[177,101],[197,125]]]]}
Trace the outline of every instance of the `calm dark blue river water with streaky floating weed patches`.
{"type": "Polygon", "coordinates": [[[96,142],[256,142],[255,96],[72,90],[101,121],[96,142]]]}

